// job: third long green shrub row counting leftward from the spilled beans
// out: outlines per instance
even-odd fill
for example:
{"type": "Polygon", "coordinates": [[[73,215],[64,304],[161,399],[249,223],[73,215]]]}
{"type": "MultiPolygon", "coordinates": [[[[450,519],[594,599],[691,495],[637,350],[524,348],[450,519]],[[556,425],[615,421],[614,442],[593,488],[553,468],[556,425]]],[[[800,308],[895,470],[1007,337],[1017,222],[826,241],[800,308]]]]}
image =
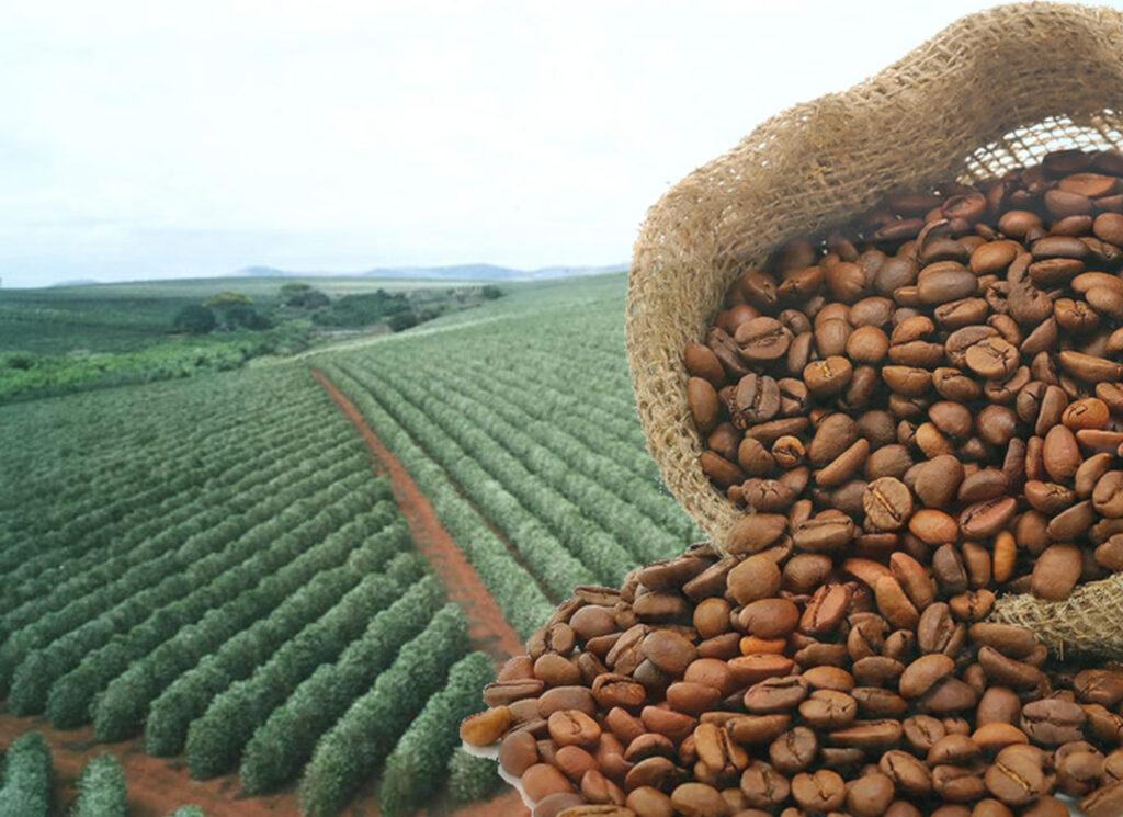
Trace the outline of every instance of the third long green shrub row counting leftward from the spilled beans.
{"type": "Polygon", "coordinates": [[[239,770],[246,793],[264,793],[298,777],[320,736],[444,604],[439,582],[427,578],[378,613],[337,661],[321,665],[296,687],[246,744],[239,770]]]}

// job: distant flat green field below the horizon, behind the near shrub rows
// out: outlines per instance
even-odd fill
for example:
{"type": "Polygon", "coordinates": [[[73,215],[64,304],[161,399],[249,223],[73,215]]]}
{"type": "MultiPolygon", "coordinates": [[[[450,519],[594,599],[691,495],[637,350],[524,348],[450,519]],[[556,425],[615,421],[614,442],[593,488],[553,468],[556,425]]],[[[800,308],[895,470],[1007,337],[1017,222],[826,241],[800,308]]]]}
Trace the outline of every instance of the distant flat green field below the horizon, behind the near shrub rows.
{"type": "Polygon", "coordinates": [[[484,300],[482,285],[472,282],[310,278],[331,302],[330,307],[311,311],[282,303],[281,287],[295,281],[234,277],[0,290],[0,404],[237,369],[340,337],[390,331],[387,322],[376,318],[334,323],[332,310],[355,296],[400,294],[421,321],[484,300]],[[181,310],[222,292],[249,299],[267,327],[173,332],[181,310]]]}

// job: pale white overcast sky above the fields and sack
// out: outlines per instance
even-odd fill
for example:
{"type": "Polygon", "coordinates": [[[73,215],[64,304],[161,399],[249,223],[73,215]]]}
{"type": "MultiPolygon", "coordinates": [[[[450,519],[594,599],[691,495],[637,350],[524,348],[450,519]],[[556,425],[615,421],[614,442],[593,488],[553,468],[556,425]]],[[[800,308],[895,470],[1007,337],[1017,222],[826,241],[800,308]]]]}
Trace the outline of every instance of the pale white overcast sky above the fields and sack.
{"type": "Polygon", "coordinates": [[[9,1],[0,277],[623,264],[760,120],[992,4],[9,1]]]}

